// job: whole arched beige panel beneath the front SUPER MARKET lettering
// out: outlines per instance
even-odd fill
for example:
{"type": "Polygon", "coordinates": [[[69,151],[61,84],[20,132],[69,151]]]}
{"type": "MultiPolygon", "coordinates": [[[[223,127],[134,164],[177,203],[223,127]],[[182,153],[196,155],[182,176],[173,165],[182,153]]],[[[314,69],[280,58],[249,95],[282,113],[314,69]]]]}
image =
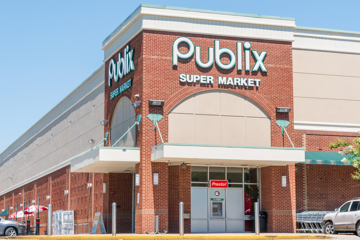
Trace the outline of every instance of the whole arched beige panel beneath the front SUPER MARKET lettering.
{"type": "Polygon", "coordinates": [[[270,146],[270,118],[245,96],[225,90],[203,91],[170,111],[169,142],[270,146]]]}

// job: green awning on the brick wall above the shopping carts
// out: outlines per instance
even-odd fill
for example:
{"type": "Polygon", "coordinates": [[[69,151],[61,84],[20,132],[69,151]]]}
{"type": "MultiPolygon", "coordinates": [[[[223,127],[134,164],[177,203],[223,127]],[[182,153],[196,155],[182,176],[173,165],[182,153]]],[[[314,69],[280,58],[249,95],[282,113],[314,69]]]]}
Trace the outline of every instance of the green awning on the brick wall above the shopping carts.
{"type": "Polygon", "coordinates": [[[305,151],[305,162],[299,164],[349,165],[341,162],[344,157],[334,152],[305,151]]]}

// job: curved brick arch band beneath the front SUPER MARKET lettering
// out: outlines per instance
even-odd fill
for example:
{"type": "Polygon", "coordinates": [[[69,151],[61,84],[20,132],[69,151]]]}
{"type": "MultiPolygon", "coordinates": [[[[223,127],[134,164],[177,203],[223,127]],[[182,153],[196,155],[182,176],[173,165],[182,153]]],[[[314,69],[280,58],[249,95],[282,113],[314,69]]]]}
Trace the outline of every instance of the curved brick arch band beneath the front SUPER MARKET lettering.
{"type": "Polygon", "coordinates": [[[197,92],[206,91],[206,90],[226,90],[226,91],[232,91],[237,92],[241,95],[246,96],[247,98],[255,101],[262,109],[265,110],[265,112],[270,116],[270,119],[272,119],[275,116],[275,108],[260,94],[258,94],[255,91],[251,90],[243,90],[243,89],[224,89],[221,87],[218,87],[218,85],[214,85],[211,89],[208,87],[185,87],[184,89],[181,89],[180,91],[176,92],[176,94],[172,95],[171,98],[169,98],[165,104],[164,104],[164,110],[166,113],[170,112],[172,108],[175,107],[176,104],[178,104],[181,100],[185,99],[186,97],[193,95],[197,92]]]}

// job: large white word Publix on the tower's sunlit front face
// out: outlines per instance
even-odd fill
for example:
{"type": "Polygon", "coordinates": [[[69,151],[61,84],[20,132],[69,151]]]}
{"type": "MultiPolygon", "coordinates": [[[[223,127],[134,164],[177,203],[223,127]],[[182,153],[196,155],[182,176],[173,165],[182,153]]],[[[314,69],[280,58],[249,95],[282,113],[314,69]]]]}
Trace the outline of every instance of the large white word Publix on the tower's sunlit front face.
{"type": "Polygon", "coordinates": [[[256,60],[256,63],[253,66],[251,71],[256,72],[260,68],[262,72],[267,72],[267,69],[263,62],[267,51],[262,51],[259,55],[256,50],[250,50],[250,47],[251,47],[250,42],[244,42],[244,44],[242,42],[237,42],[236,43],[237,56],[235,56],[235,53],[233,51],[231,51],[230,49],[225,48],[225,47],[220,48],[220,41],[215,40],[214,47],[208,48],[208,56],[209,56],[208,61],[206,63],[203,63],[200,60],[200,47],[194,46],[193,42],[190,39],[188,39],[187,37],[179,37],[178,39],[176,39],[174,41],[174,44],[172,45],[172,65],[177,66],[177,60],[179,58],[182,58],[182,59],[190,58],[195,52],[195,63],[198,64],[198,66],[201,68],[209,68],[214,63],[214,49],[215,49],[215,63],[217,66],[219,66],[219,68],[231,69],[237,63],[236,64],[237,70],[243,70],[242,69],[242,65],[243,65],[242,64],[242,61],[243,61],[242,54],[244,51],[244,62],[245,62],[244,70],[245,71],[250,71],[250,68],[251,68],[250,67],[250,52],[251,52],[256,60]],[[189,45],[189,51],[187,53],[185,53],[185,54],[180,53],[180,51],[179,51],[180,42],[186,42],[186,44],[189,45]],[[244,47],[244,50],[243,50],[243,47],[244,47]],[[220,61],[220,56],[223,53],[226,53],[230,56],[229,64],[224,64],[220,61]]]}

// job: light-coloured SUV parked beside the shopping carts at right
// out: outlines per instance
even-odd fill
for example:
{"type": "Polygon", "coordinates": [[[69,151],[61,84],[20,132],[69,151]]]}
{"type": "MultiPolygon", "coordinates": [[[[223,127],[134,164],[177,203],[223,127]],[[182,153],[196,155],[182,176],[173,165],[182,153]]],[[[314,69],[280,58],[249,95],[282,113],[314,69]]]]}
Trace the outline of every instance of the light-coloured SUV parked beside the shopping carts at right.
{"type": "Polygon", "coordinates": [[[360,237],[360,198],[351,199],[334,213],[326,214],[323,224],[325,234],[356,232],[360,237]]]}

